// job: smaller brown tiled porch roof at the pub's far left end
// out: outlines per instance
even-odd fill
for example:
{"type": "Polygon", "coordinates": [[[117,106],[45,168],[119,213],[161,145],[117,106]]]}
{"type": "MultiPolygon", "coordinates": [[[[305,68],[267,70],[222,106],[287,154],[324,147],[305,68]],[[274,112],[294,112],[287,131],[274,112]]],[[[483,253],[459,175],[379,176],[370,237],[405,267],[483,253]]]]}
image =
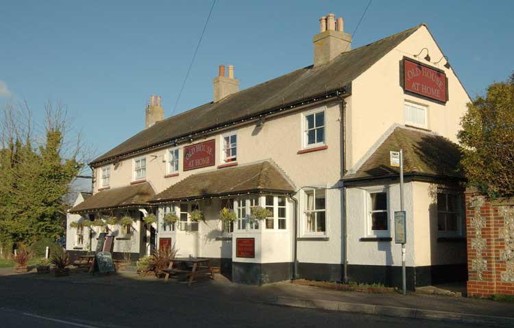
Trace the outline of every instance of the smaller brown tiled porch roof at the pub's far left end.
{"type": "Polygon", "coordinates": [[[70,213],[85,213],[97,210],[149,205],[147,201],[156,192],[148,182],[120,188],[102,190],[69,210],[70,213]]]}

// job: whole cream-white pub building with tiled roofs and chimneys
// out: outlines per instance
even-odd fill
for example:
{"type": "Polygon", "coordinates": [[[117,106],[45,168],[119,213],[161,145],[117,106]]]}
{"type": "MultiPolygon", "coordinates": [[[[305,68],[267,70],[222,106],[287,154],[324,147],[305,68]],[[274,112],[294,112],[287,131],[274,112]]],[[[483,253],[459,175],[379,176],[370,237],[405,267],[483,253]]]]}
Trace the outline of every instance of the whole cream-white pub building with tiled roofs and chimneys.
{"type": "Polygon", "coordinates": [[[90,163],[93,195],[69,211],[70,253],[95,249],[105,230],[114,257],[175,245],[237,283],[401,286],[389,153],[403,149],[407,287],[465,280],[455,142],[470,99],[428,27],[352,49],[343,19],[328,14],[313,44],[313,65],[245,90],[220,66],[213,101],[169,118],[152,96],[145,129],[90,163]],[[254,217],[256,206],[268,217],[254,217]],[[125,221],[82,227],[106,217],[125,221]]]}

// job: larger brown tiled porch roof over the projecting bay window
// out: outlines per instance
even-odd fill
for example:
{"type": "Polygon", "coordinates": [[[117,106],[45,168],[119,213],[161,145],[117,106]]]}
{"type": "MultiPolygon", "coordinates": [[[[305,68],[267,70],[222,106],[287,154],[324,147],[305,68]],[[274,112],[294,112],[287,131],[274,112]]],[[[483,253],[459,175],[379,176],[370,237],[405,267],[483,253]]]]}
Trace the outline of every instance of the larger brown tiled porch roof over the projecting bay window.
{"type": "Polygon", "coordinates": [[[189,201],[247,192],[292,194],[295,187],[271,160],[197,173],[160,192],[150,203],[189,201]]]}

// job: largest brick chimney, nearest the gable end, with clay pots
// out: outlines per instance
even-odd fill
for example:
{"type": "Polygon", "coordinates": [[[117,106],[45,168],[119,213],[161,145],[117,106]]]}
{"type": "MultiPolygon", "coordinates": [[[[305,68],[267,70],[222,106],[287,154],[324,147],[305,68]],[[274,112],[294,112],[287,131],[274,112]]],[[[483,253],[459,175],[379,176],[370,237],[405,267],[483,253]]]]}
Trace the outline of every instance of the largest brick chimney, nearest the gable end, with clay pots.
{"type": "Polygon", "coordinates": [[[352,49],[352,36],[343,32],[343,18],[334,14],[319,18],[319,34],[313,38],[314,66],[330,62],[340,53],[352,49]]]}

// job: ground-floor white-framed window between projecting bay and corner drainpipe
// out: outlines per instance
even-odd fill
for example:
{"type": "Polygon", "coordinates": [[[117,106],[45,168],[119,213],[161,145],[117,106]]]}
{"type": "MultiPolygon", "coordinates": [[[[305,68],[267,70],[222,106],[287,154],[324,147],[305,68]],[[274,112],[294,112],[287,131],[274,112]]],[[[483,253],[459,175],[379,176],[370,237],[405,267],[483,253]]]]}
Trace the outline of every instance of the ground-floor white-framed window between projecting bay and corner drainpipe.
{"type": "Polygon", "coordinates": [[[326,234],[326,190],[304,190],[304,226],[306,234],[326,234]]]}

